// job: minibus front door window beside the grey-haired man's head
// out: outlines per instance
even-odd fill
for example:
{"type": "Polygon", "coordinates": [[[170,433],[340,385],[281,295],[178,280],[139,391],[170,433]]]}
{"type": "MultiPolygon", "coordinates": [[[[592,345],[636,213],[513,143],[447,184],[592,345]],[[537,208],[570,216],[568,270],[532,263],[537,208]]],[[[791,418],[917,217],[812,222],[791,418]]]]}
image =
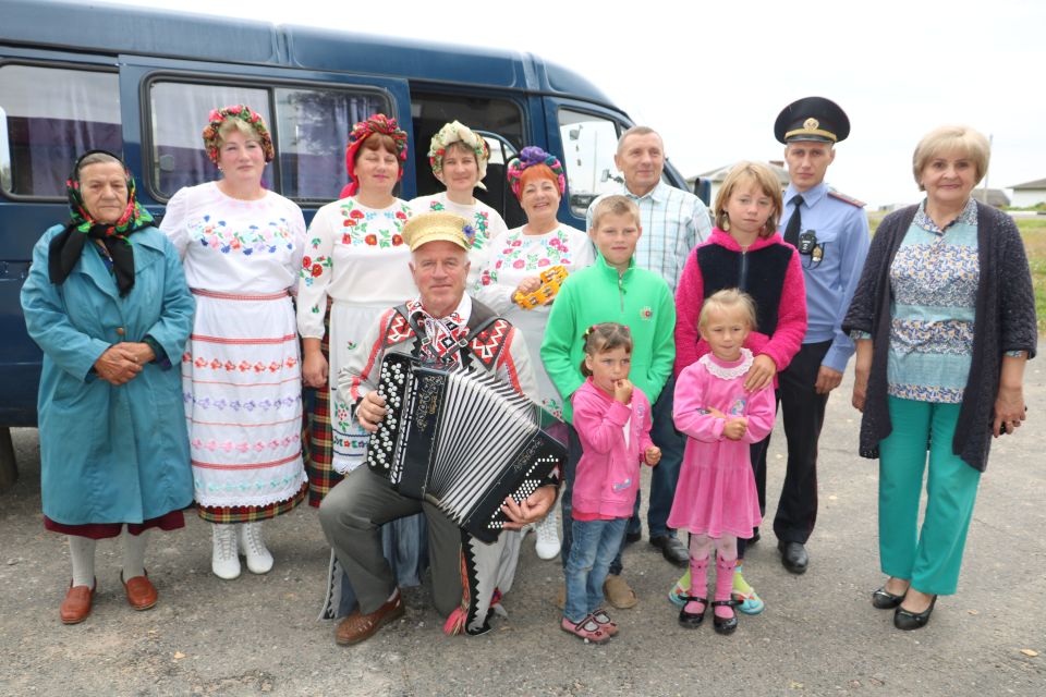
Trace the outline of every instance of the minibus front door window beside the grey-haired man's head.
{"type": "Polygon", "coordinates": [[[617,191],[622,182],[613,164],[620,129],[611,119],[560,109],[559,135],[570,210],[583,218],[596,196],[617,191]]]}

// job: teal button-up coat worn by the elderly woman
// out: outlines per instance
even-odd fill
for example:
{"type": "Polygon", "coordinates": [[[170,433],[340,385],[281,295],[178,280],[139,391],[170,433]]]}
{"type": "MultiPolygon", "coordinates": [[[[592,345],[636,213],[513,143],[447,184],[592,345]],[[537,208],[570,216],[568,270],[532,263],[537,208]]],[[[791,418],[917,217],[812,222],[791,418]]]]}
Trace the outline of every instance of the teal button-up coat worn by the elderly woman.
{"type": "Polygon", "coordinates": [[[195,302],[156,228],[131,236],[134,288],[120,297],[94,244],[62,285],[47,274],[51,228],[33,249],[22,309],[44,350],[37,405],[44,514],[57,523],[142,523],[193,501],[181,357],[195,302]],[[115,387],[92,367],[110,345],[150,335],[171,359],[115,387]]]}

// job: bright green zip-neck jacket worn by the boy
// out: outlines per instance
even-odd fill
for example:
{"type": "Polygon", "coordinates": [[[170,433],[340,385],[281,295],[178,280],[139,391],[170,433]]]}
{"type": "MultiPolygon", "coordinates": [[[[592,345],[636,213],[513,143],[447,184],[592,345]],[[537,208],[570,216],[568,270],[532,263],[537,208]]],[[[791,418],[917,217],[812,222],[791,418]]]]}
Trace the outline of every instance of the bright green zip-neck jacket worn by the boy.
{"type": "Polygon", "coordinates": [[[593,325],[619,322],[632,332],[632,371],[629,379],[657,401],[676,360],[676,303],[657,273],[640,269],[633,258],[619,274],[603,255],[595,264],[567,277],[542,341],[542,362],[563,398],[563,418],[573,420],[570,398],[585,381],[582,335],[593,325]]]}

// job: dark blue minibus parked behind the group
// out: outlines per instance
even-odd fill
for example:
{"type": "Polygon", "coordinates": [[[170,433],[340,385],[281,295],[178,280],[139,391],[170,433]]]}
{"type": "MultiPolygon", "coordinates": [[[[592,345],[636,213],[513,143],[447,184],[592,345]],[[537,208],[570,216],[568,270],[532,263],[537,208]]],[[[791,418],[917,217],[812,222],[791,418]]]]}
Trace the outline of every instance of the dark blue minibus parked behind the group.
{"type": "MultiPolygon", "coordinates": [[[[510,228],[523,215],[504,164],[524,145],[563,161],[560,220],[576,228],[620,181],[613,152],[628,115],[530,53],[95,2],[0,0],[0,460],[9,427],[36,424],[40,352],[19,292],[34,243],[68,219],[64,180],[78,152],[122,152],[157,216],[180,187],[215,178],[199,133],[212,108],[230,103],[270,124],[277,159],[266,185],[306,220],[338,197],[349,131],[374,112],[411,134],[401,198],[440,188],[426,152],[453,119],[489,142],[479,196],[510,228]]],[[[665,178],[685,187],[671,166],[665,178]]]]}

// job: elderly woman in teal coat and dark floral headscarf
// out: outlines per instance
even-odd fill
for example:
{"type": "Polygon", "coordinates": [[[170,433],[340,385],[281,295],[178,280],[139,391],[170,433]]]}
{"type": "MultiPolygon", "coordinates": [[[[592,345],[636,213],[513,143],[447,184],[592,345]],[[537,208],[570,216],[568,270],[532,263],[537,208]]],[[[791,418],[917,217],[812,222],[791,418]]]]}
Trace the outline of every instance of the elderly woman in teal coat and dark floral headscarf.
{"type": "Polygon", "coordinates": [[[97,540],[120,536],[135,610],[156,604],[146,533],[184,526],[193,500],[181,360],[193,297],[178,253],[134,198],[123,162],[82,156],[66,182],[72,219],[44,233],[22,288],[44,350],[38,402],[44,525],[69,536],[65,624],[95,592],[97,540]]]}

